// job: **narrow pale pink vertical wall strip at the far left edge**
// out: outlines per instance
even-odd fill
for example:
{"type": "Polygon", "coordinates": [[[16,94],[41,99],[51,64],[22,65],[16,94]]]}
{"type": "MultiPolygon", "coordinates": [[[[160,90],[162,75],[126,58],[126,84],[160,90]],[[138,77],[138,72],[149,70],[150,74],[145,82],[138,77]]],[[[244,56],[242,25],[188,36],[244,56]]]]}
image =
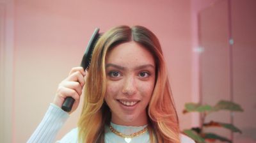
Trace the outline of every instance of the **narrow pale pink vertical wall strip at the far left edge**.
{"type": "Polygon", "coordinates": [[[12,142],[13,0],[0,0],[0,142],[12,142]]]}

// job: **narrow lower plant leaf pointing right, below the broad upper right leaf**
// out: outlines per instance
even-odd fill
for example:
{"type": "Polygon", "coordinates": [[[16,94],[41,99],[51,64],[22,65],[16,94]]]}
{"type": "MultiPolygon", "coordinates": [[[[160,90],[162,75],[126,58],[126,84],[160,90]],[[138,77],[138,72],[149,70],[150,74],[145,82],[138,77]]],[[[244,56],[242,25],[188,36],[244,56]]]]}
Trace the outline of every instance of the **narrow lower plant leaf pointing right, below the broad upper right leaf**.
{"type": "Polygon", "coordinates": [[[242,133],[242,131],[239,130],[239,128],[237,128],[233,124],[227,124],[227,123],[220,123],[220,122],[211,121],[209,123],[204,123],[203,126],[205,126],[205,127],[223,127],[223,128],[227,128],[228,130],[230,130],[232,132],[242,133]]]}

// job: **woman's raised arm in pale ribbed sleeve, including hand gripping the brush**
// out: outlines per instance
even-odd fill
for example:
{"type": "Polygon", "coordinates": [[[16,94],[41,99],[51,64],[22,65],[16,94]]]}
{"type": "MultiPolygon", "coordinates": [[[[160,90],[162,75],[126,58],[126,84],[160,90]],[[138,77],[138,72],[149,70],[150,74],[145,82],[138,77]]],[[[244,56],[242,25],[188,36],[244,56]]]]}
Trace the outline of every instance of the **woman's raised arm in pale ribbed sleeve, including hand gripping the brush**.
{"type": "Polygon", "coordinates": [[[83,67],[72,68],[68,77],[60,82],[54,101],[47,110],[42,122],[38,125],[35,132],[28,142],[53,142],[60,128],[68,119],[68,114],[77,109],[82,89],[84,86],[84,76],[86,72],[83,67]],[[65,112],[61,106],[65,98],[71,96],[75,102],[70,112],[65,112]]]}

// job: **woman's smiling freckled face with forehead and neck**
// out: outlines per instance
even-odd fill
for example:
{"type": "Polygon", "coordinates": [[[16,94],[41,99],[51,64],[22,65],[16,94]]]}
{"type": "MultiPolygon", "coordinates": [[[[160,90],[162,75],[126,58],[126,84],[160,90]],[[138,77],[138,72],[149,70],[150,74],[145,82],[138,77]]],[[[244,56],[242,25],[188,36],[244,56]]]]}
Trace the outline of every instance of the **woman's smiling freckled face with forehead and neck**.
{"type": "Polygon", "coordinates": [[[145,47],[129,41],[106,57],[107,91],[111,121],[126,126],[147,124],[146,107],[154,90],[156,65],[145,47]]]}

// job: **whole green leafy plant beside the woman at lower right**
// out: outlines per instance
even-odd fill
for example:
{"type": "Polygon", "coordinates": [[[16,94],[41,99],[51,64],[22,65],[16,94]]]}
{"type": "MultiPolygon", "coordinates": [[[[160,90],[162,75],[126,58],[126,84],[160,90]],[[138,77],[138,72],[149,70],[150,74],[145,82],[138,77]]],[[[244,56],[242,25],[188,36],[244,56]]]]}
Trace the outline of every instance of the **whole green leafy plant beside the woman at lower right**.
{"type": "Polygon", "coordinates": [[[183,132],[198,143],[205,143],[207,141],[214,142],[215,140],[221,140],[223,142],[231,143],[232,141],[230,139],[227,139],[226,137],[222,137],[221,135],[217,135],[216,133],[206,133],[204,131],[204,128],[221,127],[226,128],[231,132],[242,133],[241,130],[239,130],[239,128],[234,126],[234,124],[220,123],[216,121],[210,121],[209,123],[205,123],[205,117],[207,117],[209,114],[218,112],[220,110],[228,110],[230,112],[243,112],[243,109],[241,108],[240,105],[225,100],[221,100],[214,106],[202,105],[200,103],[186,103],[183,113],[186,114],[189,112],[200,112],[201,122],[200,126],[196,128],[191,128],[189,130],[184,130],[183,132]]]}

